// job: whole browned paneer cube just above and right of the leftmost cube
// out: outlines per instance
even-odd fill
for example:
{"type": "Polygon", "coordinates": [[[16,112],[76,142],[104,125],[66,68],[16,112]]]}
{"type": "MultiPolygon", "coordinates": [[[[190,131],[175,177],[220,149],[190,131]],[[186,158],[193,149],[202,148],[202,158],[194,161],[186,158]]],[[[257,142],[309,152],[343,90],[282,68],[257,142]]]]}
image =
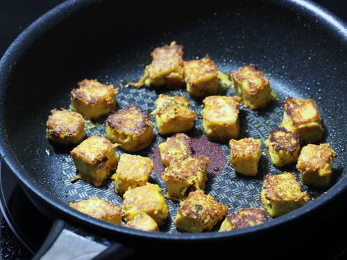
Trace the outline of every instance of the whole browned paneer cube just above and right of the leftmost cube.
{"type": "Polygon", "coordinates": [[[87,117],[87,119],[99,119],[99,117],[115,112],[115,95],[118,89],[113,85],[103,85],[97,80],[82,80],[78,83],[78,89],[71,91],[71,107],[73,110],[87,117]]]}

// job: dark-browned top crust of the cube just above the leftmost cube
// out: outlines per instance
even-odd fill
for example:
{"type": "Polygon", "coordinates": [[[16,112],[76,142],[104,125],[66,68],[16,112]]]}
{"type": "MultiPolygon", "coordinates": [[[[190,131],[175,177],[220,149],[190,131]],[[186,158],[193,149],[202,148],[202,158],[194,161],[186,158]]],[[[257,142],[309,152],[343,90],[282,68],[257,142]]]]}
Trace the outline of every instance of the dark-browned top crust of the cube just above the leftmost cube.
{"type": "MultiPolygon", "coordinates": [[[[71,98],[78,99],[82,103],[89,106],[98,104],[105,96],[114,96],[118,93],[118,89],[113,88],[113,85],[103,85],[97,80],[81,80],[78,82],[78,89],[72,89],[71,98]]],[[[106,100],[108,105],[113,105],[113,111],[115,111],[115,100],[109,98],[106,100]]]]}

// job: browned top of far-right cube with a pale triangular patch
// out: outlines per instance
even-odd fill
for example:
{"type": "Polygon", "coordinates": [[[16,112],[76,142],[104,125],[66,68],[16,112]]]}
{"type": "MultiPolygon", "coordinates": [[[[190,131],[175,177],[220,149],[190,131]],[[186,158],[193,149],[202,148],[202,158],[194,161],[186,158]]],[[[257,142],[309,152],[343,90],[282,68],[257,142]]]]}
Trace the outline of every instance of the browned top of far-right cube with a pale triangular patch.
{"type": "Polygon", "coordinates": [[[296,127],[312,122],[321,123],[321,115],[316,107],[316,103],[314,103],[312,99],[286,98],[284,102],[284,110],[287,112],[293,125],[296,127]],[[311,106],[316,110],[316,114],[310,116],[310,118],[305,118],[303,112],[308,106],[311,106]]]}

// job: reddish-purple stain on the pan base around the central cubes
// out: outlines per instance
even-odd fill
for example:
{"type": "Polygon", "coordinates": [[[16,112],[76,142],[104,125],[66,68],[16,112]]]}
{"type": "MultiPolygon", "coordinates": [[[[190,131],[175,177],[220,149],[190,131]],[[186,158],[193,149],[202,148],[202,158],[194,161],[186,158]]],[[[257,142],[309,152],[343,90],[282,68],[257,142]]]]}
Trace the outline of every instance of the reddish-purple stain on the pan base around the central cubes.
{"type": "MultiPolygon", "coordinates": [[[[206,138],[205,135],[201,135],[200,137],[191,137],[191,139],[191,148],[194,155],[205,155],[206,157],[210,158],[210,163],[208,164],[208,173],[210,175],[217,175],[218,173],[221,173],[226,166],[226,157],[221,146],[212,143],[212,141],[206,138]]],[[[153,159],[154,162],[153,171],[156,175],[161,177],[165,167],[160,159],[158,147],[153,150],[151,159],[153,159]]]]}

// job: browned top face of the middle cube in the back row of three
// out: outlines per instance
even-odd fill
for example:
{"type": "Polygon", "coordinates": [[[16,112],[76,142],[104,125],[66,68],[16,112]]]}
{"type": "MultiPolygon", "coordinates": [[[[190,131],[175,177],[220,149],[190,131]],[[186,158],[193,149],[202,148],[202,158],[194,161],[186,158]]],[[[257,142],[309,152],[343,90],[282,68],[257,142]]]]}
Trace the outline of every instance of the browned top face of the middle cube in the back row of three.
{"type": "Polygon", "coordinates": [[[185,62],[185,83],[192,87],[217,79],[217,66],[209,56],[185,62]]]}

